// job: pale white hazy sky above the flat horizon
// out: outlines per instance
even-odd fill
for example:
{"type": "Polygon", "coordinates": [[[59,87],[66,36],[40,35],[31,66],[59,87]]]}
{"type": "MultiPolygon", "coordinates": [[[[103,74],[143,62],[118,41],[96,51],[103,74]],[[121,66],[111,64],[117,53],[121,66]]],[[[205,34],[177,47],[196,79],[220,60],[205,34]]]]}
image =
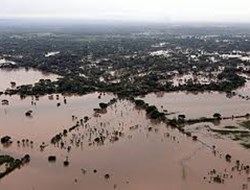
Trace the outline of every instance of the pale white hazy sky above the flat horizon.
{"type": "Polygon", "coordinates": [[[0,0],[0,18],[250,22],[250,0],[0,0]]]}

